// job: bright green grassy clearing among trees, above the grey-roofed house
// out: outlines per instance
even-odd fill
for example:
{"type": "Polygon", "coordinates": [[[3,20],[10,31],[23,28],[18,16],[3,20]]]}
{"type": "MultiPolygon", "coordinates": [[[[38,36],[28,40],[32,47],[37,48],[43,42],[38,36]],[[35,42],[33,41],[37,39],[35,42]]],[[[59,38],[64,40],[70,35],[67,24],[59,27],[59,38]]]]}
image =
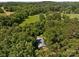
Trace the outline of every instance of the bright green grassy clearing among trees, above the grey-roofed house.
{"type": "Polygon", "coordinates": [[[29,16],[28,19],[25,19],[23,23],[21,23],[19,26],[24,27],[26,24],[31,24],[39,21],[39,15],[29,16]]]}

